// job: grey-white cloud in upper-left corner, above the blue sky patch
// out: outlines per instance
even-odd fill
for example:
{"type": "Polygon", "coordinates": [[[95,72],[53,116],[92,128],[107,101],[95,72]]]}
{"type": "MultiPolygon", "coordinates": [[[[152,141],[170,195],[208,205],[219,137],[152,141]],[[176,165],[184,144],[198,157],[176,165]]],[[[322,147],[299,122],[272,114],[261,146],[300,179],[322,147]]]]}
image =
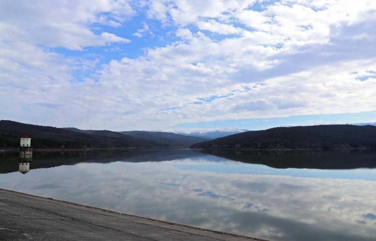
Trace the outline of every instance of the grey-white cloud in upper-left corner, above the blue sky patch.
{"type": "Polygon", "coordinates": [[[29,44],[71,50],[106,44],[106,39],[90,29],[91,24],[118,27],[135,14],[127,1],[2,2],[0,9],[0,40],[22,39],[29,44]]]}

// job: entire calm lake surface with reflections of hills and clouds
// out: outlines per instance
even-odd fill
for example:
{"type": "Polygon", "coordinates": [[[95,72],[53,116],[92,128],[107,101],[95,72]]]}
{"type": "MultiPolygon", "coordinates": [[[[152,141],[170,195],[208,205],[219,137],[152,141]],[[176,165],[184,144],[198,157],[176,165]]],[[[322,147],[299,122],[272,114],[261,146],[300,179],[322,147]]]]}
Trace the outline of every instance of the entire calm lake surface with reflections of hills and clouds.
{"type": "Polygon", "coordinates": [[[271,241],[375,240],[376,152],[0,154],[0,188],[271,241]]]}

